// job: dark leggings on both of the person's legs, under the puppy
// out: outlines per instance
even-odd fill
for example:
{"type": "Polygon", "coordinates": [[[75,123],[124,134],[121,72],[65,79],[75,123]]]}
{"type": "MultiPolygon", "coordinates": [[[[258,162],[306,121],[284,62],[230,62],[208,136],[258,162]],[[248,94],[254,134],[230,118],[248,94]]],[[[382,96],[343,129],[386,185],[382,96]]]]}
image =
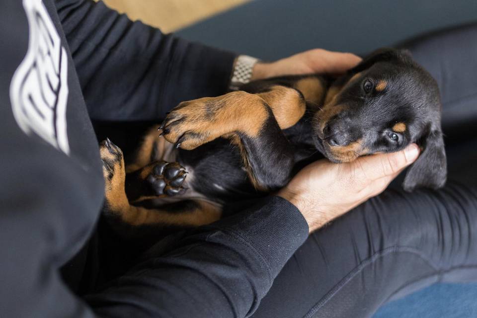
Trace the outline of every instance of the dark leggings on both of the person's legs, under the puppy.
{"type": "Polygon", "coordinates": [[[405,44],[438,81],[449,176],[439,191],[394,186],[312,234],[254,318],[370,317],[437,281],[477,278],[477,24],[405,44]]]}

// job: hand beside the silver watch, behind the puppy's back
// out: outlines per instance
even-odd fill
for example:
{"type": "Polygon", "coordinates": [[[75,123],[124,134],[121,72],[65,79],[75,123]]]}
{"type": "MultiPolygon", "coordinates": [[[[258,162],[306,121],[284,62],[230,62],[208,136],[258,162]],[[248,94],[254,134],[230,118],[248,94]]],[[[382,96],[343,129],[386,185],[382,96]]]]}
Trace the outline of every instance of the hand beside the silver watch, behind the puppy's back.
{"type": "Polygon", "coordinates": [[[352,53],[313,49],[271,63],[258,62],[253,67],[251,80],[311,73],[338,75],[359,62],[361,58],[352,53]]]}

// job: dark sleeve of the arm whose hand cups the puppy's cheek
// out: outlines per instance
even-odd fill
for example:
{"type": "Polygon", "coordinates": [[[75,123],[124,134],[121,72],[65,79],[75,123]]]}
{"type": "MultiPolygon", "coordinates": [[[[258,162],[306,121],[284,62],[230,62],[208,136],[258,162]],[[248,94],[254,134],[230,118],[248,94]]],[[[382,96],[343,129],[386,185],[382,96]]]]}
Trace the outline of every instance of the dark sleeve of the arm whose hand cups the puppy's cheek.
{"type": "Polygon", "coordinates": [[[307,237],[297,208],[271,197],[149,257],[86,301],[101,317],[247,317],[307,237]]]}

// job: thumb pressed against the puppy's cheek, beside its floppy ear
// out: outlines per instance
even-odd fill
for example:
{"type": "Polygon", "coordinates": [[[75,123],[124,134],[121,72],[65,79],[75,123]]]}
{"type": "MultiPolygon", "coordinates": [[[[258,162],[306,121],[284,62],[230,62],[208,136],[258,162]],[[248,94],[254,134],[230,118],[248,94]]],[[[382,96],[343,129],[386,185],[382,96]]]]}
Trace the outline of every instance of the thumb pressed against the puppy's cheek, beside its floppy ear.
{"type": "Polygon", "coordinates": [[[361,157],[355,160],[353,167],[360,177],[367,180],[377,180],[385,176],[392,176],[402,168],[414,162],[419,156],[419,147],[411,144],[405,149],[389,154],[379,154],[361,157]]]}

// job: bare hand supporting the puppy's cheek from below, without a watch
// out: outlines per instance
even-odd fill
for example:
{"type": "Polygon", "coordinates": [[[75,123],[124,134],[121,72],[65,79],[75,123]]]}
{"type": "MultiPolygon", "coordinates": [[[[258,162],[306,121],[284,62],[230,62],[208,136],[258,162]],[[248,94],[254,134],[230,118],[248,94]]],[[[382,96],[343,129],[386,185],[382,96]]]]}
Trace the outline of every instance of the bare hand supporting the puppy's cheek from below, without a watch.
{"type": "Polygon", "coordinates": [[[277,195],[294,204],[310,233],[383,192],[417,159],[416,144],[396,153],[360,157],[352,162],[318,160],[303,168],[277,195]]]}

